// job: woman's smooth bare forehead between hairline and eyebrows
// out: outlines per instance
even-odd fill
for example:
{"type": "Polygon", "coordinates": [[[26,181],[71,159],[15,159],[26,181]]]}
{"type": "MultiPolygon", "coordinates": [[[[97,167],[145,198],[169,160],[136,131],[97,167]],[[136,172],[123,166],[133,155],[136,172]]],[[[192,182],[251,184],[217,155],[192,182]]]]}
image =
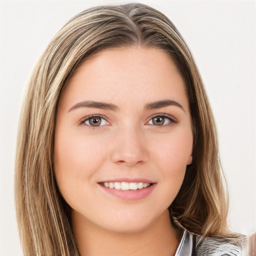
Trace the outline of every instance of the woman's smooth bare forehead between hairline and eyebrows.
{"type": "Polygon", "coordinates": [[[61,98],[114,104],[172,98],[187,107],[181,75],[172,59],[157,48],[116,48],[93,55],[66,82],[61,98]]]}

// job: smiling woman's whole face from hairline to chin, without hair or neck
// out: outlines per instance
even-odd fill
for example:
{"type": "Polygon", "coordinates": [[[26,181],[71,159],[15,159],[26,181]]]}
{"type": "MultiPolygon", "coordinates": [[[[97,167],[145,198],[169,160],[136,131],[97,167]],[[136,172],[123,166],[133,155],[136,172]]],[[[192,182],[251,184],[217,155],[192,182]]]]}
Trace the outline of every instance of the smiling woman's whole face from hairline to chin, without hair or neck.
{"type": "Polygon", "coordinates": [[[57,108],[54,170],[72,217],[116,232],[151,225],[177,195],[192,141],[184,83],[167,54],[92,56],[57,108]]]}

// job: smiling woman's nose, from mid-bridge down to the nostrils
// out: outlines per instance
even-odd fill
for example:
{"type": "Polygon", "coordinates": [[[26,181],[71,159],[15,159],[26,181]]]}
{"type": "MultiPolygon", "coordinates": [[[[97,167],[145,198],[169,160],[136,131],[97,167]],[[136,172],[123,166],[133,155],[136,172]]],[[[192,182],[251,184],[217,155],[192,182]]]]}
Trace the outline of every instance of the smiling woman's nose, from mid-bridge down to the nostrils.
{"type": "Polygon", "coordinates": [[[112,142],[111,161],[114,163],[134,166],[149,158],[145,136],[139,129],[120,129],[112,142]]]}

